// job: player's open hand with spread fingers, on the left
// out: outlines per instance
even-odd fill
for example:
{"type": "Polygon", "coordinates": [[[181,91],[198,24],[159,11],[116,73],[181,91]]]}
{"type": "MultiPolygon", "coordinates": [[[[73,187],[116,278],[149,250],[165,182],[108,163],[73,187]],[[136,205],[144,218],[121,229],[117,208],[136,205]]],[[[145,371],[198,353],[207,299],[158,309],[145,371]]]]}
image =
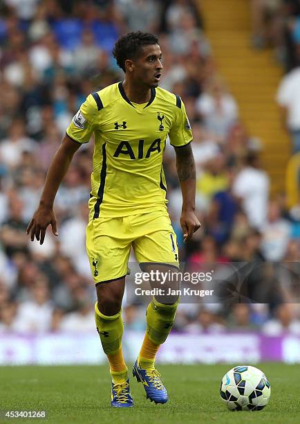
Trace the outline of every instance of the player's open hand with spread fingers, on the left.
{"type": "Polygon", "coordinates": [[[39,240],[39,244],[42,245],[44,243],[46,229],[49,224],[51,224],[53,234],[58,236],[55,212],[52,208],[49,209],[45,206],[39,206],[32,216],[32,220],[28,224],[26,234],[31,232],[31,241],[36,238],[39,240]]]}

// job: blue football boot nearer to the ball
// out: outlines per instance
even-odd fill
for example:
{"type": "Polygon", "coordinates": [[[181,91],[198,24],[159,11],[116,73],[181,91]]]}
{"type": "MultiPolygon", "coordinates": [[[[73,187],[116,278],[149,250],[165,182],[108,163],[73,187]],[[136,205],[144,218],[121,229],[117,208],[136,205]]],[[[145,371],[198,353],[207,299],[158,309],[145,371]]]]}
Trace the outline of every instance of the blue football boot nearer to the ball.
{"type": "Polygon", "coordinates": [[[136,360],[133,365],[132,373],[133,377],[135,377],[138,382],[142,382],[144,385],[147,399],[150,399],[151,402],[155,403],[167,403],[167,390],[160,381],[160,373],[156,369],[151,371],[142,369],[138,364],[138,360],[136,360]]]}

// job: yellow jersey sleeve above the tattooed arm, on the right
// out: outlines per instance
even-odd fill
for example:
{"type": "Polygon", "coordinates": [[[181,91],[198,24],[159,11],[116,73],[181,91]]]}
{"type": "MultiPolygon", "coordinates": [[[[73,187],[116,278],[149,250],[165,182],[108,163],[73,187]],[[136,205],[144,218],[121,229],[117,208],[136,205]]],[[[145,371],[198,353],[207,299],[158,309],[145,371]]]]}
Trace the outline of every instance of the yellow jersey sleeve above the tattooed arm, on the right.
{"type": "Polygon", "coordinates": [[[176,96],[176,100],[176,116],[169,132],[169,139],[171,145],[181,147],[191,142],[193,134],[191,133],[191,125],[187,118],[187,112],[185,112],[185,105],[179,96],[176,96]]]}

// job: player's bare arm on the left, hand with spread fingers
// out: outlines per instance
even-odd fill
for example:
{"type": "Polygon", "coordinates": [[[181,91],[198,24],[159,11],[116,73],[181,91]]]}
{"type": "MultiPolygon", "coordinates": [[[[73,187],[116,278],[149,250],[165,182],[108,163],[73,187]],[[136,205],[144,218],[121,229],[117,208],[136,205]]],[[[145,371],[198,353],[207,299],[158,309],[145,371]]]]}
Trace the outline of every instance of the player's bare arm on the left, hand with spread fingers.
{"type": "Polygon", "coordinates": [[[35,211],[32,220],[29,222],[26,233],[30,233],[30,238],[33,241],[35,238],[39,240],[42,245],[45,239],[46,229],[51,224],[53,234],[58,236],[57,223],[55,218],[55,212],[53,211],[53,203],[55,195],[62,182],[62,179],[66,175],[68,167],[71,164],[74,153],[80,147],[79,143],[72,140],[67,134],[62,140],[62,144],[59,146],[55,157],[53,158],[50,168],[46,176],[46,182],[43,193],[41,193],[41,199],[39,206],[35,211]]]}

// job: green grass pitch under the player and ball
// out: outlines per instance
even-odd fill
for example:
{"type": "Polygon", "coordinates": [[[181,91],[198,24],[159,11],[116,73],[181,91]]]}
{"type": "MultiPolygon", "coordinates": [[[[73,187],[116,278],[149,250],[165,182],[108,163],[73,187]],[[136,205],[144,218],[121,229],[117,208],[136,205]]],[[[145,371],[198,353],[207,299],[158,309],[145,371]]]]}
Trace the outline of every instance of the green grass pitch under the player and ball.
{"type": "MultiPolygon", "coordinates": [[[[234,366],[234,365],[232,365],[234,366]]],[[[297,423],[299,365],[258,364],[271,383],[270,403],[263,411],[230,412],[219,398],[221,378],[231,365],[159,366],[169,391],[166,405],[154,405],[131,378],[135,406],[110,406],[106,366],[0,367],[0,409],[47,411],[47,419],[5,421],[42,423],[297,423]]],[[[3,422],[3,418],[0,419],[3,422]]]]}

